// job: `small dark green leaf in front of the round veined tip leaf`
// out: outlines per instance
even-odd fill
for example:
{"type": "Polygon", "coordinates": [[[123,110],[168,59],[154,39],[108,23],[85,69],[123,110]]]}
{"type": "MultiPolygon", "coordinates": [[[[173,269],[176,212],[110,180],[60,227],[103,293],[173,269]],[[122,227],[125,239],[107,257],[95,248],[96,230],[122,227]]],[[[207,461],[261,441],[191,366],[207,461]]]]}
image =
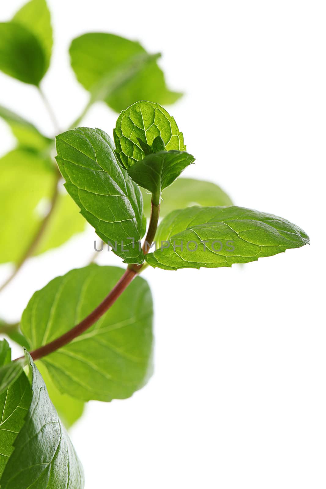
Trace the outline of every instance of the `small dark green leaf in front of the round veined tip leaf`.
{"type": "Polygon", "coordinates": [[[130,177],[153,194],[155,205],[160,203],[162,190],[171,185],[195,158],[185,151],[160,151],[145,156],[128,170],[130,177]]]}

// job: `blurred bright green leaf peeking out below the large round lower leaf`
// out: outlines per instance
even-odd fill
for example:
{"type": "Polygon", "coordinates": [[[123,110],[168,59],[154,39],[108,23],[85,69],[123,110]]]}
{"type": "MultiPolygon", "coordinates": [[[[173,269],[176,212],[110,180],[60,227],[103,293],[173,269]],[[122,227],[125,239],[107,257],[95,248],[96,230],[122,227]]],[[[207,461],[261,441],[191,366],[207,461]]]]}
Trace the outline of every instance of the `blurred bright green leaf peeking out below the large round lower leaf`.
{"type": "Polygon", "coordinates": [[[67,429],[70,428],[83,415],[85,402],[79,399],[74,399],[67,394],[61,394],[49,376],[45,365],[41,361],[36,362],[36,364],[45,382],[49,398],[53,402],[59,418],[67,429]]]}

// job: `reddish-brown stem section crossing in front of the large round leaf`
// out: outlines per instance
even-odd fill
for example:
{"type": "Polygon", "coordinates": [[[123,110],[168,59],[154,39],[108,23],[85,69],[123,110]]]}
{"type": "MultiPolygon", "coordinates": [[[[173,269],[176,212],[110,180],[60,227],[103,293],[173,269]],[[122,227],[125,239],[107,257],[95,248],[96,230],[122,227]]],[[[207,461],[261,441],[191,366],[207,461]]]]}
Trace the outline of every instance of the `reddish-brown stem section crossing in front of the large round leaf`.
{"type": "Polygon", "coordinates": [[[132,279],[137,275],[137,273],[133,270],[127,268],[119,282],[114,286],[114,288],[110,291],[109,295],[101,302],[99,306],[97,306],[94,311],[92,311],[88,316],[83,319],[79,324],[77,324],[74,328],[67,331],[67,333],[63,334],[59,338],[51,341],[47,345],[41,346],[37,350],[30,352],[33,360],[37,360],[42,358],[45,355],[49,355],[50,353],[58,350],[58,348],[62,348],[67,343],[70,343],[74,338],[84,333],[90,326],[92,326],[96,321],[106,312],[108,309],[115,303],[117,298],[122,294],[122,292],[128,287],[132,279]]]}

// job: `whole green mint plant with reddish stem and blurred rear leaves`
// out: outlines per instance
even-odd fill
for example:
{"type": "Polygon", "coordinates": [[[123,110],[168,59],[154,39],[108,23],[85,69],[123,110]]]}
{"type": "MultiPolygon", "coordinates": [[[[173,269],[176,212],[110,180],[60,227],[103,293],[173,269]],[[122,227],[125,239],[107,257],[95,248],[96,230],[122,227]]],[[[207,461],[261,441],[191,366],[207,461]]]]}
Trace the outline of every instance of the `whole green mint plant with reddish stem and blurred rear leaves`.
{"type": "MultiPolygon", "coordinates": [[[[47,105],[40,82],[51,48],[44,0],[0,24],[0,69],[37,87],[47,105]]],[[[126,399],[151,376],[153,304],[140,276],[146,267],[231,267],[308,244],[295,224],[235,206],[213,183],[179,178],[195,158],[161,105],[181,94],[167,88],[158,55],[95,33],[75,39],[70,56],[89,101],[67,131],[56,131],[56,162],[52,138],[0,108],[18,141],[0,160],[0,259],[15,264],[2,288],[28,257],[65,243],[86,222],[125,266],[71,270],[32,295],[19,325],[0,323],[1,333],[24,347],[12,361],[0,341],[1,489],[84,488],[65,427],[86,401],[126,399]],[[80,127],[98,100],[120,112],[113,139],[80,127]],[[49,210],[38,216],[44,198],[49,210]]]]}

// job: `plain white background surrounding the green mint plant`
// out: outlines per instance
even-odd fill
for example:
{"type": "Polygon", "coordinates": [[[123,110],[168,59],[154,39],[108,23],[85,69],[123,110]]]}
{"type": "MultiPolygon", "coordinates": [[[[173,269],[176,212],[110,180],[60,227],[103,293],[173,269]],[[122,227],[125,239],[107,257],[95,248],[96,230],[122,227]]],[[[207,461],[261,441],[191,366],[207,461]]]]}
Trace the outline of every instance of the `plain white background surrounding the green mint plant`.
{"type": "MultiPolygon", "coordinates": [[[[1,2],[1,19],[20,5],[1,2]]],[[[311,238],[243,268],[145,271],[155,373],[129,400],[90,402],[71,431],[86,489],[324,489],[325,3],[49,5],[56,44],[43,89],[62,128],[87,101],[69,67],[70,40],[91,31],[139,40],[163,53],[170,86],[186,93],[168,108],[196,156],[185,176],[210,179],[311,238]]],[[[0,74],[0,103],[51,134],[36,89],[0,74]]],[[[112,134],[115,119],[98,104],[84,125],[112,134]]],[[[5,124],[0,131],[3,154],[14,140],[5,124]]],[[[34,290],[87,264],[92,240],[89,232],[30,260],[0,296],[2,316],[19,319],[34,290]]],[[[0,268],[2,280],[9,271],[0,268]]]]}

